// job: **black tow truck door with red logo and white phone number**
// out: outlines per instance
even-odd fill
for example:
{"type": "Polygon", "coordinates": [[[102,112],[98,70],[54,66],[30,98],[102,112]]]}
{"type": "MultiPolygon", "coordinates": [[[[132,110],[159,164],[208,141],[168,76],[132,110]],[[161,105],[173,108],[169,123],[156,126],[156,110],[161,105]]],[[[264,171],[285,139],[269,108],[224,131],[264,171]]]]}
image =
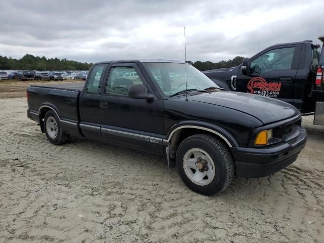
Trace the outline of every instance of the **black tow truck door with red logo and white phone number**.
{"type": "Polygon", "coordinates": [[[294,104],[294,84],[301,45],[268,48],[249,60],[248,74],[241,69],[236,91],[277,98],[294,104]]]}

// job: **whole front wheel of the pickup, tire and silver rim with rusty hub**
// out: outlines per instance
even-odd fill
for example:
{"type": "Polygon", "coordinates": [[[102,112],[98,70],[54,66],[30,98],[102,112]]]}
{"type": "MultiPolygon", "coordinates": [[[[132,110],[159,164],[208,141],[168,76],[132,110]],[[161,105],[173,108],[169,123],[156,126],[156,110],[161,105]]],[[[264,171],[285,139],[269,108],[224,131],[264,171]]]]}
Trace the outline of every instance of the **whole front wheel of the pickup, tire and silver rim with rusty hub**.
{"type": "Polygon", "coordinates": [[[234,160],[229,149],[206,134],[183,140],[177,150],[176,164],[183,182],[203,195],[221,193],[234,177],[234,160]]]}

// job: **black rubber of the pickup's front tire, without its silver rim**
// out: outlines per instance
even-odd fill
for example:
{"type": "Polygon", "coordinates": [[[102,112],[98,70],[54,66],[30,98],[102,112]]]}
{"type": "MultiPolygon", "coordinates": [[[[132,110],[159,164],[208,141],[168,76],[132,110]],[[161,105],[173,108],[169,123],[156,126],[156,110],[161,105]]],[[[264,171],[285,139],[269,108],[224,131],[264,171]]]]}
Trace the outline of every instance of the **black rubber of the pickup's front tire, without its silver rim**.
{"type": "Polygon", "coordinates": [[[234,159],[229,149],[217,138],[206,134],[192,135],[183,140],[177,150],[176,164],[182,181],[191,190],[203,195],[221,193],[230,185],[234,177],[234,159]],[[215,165],[214,177],[211,177],[213,179],[210,179],[211,182],[207,185],[198,185],[192,181],[184,169],[185,154],[196,148],[206,151],[215,165]]]}

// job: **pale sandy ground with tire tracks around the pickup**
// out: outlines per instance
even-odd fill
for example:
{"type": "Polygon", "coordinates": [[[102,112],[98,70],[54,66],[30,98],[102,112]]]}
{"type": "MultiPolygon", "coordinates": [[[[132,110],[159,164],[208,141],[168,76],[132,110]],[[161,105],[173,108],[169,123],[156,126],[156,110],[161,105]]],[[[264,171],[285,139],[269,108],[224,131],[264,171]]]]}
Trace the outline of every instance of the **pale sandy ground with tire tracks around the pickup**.
{"type": "Polygon", "coordinates": [[[294,164],[203,196],[163,157],[84,139],[54,146],[26,109],[0,99],[0,242],[324,242],[324,127],[312,116],[294,164]]]}

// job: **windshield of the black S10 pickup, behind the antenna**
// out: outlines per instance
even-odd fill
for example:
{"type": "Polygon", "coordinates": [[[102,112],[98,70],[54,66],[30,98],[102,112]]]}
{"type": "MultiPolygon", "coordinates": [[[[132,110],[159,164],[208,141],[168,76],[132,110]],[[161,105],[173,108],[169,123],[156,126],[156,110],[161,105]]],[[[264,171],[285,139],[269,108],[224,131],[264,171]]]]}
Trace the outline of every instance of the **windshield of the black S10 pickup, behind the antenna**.
{"type": "Polygon", "coordinates": [[[160,89],[167,96],[171,96],[186,89],[204,90],[210,87],[219,88],[204,73],[189,64],[164,62],[148,62],[143,64],[152,74],[160,89]]]}

